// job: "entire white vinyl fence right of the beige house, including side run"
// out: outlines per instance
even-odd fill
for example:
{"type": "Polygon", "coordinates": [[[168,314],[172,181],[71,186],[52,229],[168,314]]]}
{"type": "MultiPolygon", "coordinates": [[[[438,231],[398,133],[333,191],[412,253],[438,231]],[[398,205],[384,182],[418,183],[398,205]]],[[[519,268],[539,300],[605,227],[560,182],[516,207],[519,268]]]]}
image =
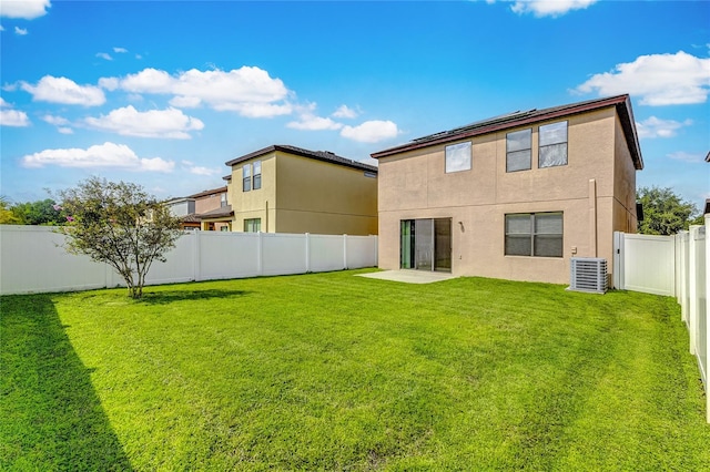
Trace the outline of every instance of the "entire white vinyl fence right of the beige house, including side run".
{"type": "Polygon", "coordinates": [[[708,359],[708,294],[710,293],[710,237],[704,226],[691,226],[674,236],[615,234],[613,286],[622,290],[676,297],[688,328],[690,353],[706,389],[706,414],[710,422],[710,366],[708,359]]]}

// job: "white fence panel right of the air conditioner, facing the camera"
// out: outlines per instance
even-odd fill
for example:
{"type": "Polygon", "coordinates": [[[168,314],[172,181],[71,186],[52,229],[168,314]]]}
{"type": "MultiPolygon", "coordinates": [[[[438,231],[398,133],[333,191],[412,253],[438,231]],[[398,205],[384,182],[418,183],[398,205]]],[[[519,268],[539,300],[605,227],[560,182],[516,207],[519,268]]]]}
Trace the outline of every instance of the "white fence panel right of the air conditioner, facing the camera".
{"type": "Polygon", "coordinates": [[[623,235],[622,287],[655,295],[676,295],[673,236],[623,235]]]}

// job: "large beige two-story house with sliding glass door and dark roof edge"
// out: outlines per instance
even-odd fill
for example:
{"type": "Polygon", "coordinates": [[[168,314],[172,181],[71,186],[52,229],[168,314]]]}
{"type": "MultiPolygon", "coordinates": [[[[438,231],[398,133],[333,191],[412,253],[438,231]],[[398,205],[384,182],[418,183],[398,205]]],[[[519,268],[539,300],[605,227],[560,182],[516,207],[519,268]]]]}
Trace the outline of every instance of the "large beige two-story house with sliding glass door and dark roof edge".
{"type": "Polygon", "coordinates": [[[628,95],[530,110],[372,154],[379,267],[569,283],[636,233],[643,160],[628,95]]]}

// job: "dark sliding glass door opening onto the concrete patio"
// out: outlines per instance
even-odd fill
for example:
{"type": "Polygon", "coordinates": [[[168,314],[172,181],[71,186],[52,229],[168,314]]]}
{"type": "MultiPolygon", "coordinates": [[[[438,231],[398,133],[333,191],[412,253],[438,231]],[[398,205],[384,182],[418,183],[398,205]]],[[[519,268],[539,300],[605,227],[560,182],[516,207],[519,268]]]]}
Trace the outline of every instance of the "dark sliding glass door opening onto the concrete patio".
{"type": "Polygon", "coordinates": [[[400,222],[403,269],[452,271],[452,219],[426,218],[400,222]]]}

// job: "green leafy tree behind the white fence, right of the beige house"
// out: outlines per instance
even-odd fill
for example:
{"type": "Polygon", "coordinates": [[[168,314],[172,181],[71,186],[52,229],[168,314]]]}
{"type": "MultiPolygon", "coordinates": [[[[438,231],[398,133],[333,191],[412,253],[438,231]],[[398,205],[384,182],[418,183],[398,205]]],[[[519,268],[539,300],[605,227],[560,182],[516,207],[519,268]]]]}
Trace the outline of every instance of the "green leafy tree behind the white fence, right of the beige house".
{"type": "Polygon", "coordinates": [[[636,193],[637,202],[643,206],[643,220],[638,230],[646,235],[674,235],[688,229],[698,208],[683,201],[671,188],[641,187],[636,193]]]}

